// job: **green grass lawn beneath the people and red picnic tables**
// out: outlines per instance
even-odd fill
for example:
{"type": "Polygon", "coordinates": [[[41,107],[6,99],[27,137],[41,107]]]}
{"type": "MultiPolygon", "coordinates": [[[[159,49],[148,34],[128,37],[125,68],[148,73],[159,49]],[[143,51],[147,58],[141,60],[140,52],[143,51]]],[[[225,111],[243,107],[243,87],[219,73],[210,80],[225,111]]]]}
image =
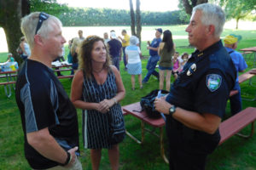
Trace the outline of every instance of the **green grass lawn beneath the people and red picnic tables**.
{"type": "MultiPolygon", "coordinates": [[[[157,27],[157,26],[155,26],[157,27]]],[[[187,35],[183,30],[185,26],[162,26],[163,30],[172,30],[173,35],[185,36],[187,35]]],[[[143,27],[143,29],[150,29],[149,27],[143,27]]],[[[151,28],[152,29],[152,28],[151,28]]],[[[224,30],[223,37],[229,32],[242,35],[243,39],[239,43],[239,48],[247,48],[256,46],[255,31],[233,31],[224,30]]],[[[154,35],[153,35],[154,36],[154,35]]],[[[175,39],[174,42],[177,46],[177,51],[181,54],[183,52],[191,53],[194,48],[189,48],[187,39],[175,39]]],[[[143,59],[143,77],[146,75],[146,65],[148,59],[148,50],[146,49],[146,42],[142,43],[142,52],[146,56],[143,59]]],[[[66,47],[66,56],[67,56],[66,47]]],[[[0,62],[5,61],[7,53],[0,54],[0,62]]],[[[251,62],[247,63],[252,65],[251,62]]],[[[249,68],[250,69],[250,68],[249,68]]],[[[249,70],[247,69],[247,70],[249,70]]],[[[143,89],[138,89],[137,83],[136,90],[131,91],[131,77],[124,71],[124,65],[120,63],[120,73],[125,85],[126,95],[125,99],[121,101],[121,105],[128,105],[140,100],[142,96],[148,94],[151,90],[158,88],[159,84],[154,77],[150,77],[147,84],[143,89]]],[[[65,74],[69,74],[69,71],[65,74]]],[[[173,80],[173,77],[172,77],[173,80]]],[[[0,81],[3,81],[0,79],[0,81]]],[[[255,77],[253,82],[256,83],[255,77]]],[[[61,80],[63,87],[70,94],[71,80],[61,80]]],[[[248,82],[241,83],[241,93],[243,97],[253,98],[256,92],[256,88],[249,86],[248,82]]],[[[4,94],[3,86],[0,86],[0,169],[31,169],[25,159],[23,151],[23,132],[20,122],[20,112],[15,102],[15,95],[8,99],[4,94]]],[[[242,101],[243,109],[248,106],[256,107],[255,101],[242,101]]],[[[82,116],[81,111],[78,111],[79,115],[79,133],[80,133],[80,149],[81,149],[81,161],[84,169],[91,169],[90,164],[90,152],[84,150],[82,143],[82,116]]],[[[230,104],[228,103],[226,108],[226,116],[230,116],[230,104]]],[[[125,116],[125,127],[127,130],[137,136],[141,135],[140,121],[132,116],[125,116]]],[[[157,129],[158,130],[158,129],[157,129]]],[[[250,126],[242,130],[243,133],[248,133],[250,126]]],[[[158,132],[158,131],[157,131],[158,132]]],[[[166,139],[165,139],[166,142],[166,139]]],[[[250,170],[256,168],[256,135],[250,139],[241,139],[237,136],[233,136],[224,144],[218,146],[217,150],[214,150],[211,156],[207,159],[207,170],[250,170]]],[[[120,148],[120,169],[147,169],[147,170],[167,170],[168,166],[160,156],[159,139],[155,138],[149,133],[146,133],[143,145],[135,143],[129,137],[126,137],[124,142],[119,144],[120,148]]],[[[110,169],[108,161],[107,150],[102,151],[102,162],[100,169],[110,169]]]]}

